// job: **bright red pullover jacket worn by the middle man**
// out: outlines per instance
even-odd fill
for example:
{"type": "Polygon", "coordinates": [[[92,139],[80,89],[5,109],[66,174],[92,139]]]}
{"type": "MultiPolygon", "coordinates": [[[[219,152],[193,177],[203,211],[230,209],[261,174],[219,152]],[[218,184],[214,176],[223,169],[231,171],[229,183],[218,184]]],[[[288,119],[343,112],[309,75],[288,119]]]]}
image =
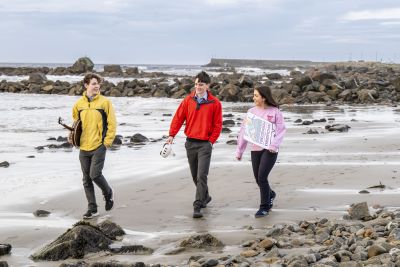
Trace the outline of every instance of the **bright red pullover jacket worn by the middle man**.
{"type": "Polygon", "coordinates": [[[172,119],[169,135],[175,137],[186,121],[185,134],[189,138],[217,141],[222,130],[221,102],[207,91],[207,102],[198,104],[195,92],[186,96],[172,119]]]}

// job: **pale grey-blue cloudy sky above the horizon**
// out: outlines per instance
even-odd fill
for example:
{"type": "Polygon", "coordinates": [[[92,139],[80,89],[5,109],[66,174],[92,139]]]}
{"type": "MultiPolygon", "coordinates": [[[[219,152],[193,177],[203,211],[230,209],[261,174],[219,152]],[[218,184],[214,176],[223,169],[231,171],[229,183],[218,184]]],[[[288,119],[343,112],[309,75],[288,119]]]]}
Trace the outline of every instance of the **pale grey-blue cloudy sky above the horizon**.
{"type": "Polygon", "coordinates": [[[400,62],[398,0],[0,0],[0,62],[400,62]]]}

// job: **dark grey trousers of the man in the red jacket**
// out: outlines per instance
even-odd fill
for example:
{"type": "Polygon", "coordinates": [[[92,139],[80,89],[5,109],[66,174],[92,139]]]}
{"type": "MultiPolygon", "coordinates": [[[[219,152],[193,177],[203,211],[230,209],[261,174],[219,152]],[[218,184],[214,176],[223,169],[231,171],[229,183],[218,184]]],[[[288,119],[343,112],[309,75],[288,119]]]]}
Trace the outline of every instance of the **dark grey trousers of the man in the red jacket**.
{"type": "Polygon", "coordinates": [[[212,144],[210,142],[186,140],[186,155],[193,182],[196,185],[196,199],[193,207],[206,204],[208,195],[207,175],[210,169],[212,144]]]}

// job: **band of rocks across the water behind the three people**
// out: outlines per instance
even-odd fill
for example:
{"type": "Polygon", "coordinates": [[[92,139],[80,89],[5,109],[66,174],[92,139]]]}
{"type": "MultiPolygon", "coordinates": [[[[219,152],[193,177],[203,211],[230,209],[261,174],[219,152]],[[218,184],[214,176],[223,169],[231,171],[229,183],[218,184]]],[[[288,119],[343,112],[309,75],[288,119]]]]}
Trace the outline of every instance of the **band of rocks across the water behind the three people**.
{"type": "MultiPolygon", "coordinates": [[[[80,58],[71,67],[54,69],[0,68],[0,75],[29,75],[28,80],[0,82],[0,92],[81,95],[81,82],[50,81],[46,75],[82,75],[93,71],[89,58],[80,58]]],[[[207,69],[206,69],[207,70],[207,69]]],[[[293,70],[289,75],[269,73],[244,75],[234,68],[219,69],[212,78],[211,92],[228,102],[251,102],[253,88],[267,84],[280,104],[388,104],[400,101],[400,65],[379,62],[326,63],[306,69],[293,70]],[[224,72],[226,71],[226,72],[224,72]]],[[[105,65],[98,72],[103,77],[129,78],[113,84],[104,81],[102,94],[113,97],[182,98],[194,86],[192,77],[160,72],[139,72],[138,68],[122,69],[120,65],[105,65]]]]}

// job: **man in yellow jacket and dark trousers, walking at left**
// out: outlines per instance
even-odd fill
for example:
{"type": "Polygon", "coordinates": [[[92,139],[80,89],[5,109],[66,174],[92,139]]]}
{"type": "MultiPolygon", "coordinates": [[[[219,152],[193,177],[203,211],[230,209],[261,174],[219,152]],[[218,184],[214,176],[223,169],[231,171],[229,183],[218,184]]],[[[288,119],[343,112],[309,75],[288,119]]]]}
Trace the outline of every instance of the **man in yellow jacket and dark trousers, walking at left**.
{"type": "Polygon", "coordinates": [[[100,95],[101,77],[89,73],[83,78],[86,91],[72,108],[74,121],[82,122],[79,160],[83,173],[83,188],[88,201],[84,219],[98,216],[93,182],[101,189],[109,211],[114,206],[114,192],[102,174],[107,148],[116,133],[116,119],[111,101],[100,95]]]}

